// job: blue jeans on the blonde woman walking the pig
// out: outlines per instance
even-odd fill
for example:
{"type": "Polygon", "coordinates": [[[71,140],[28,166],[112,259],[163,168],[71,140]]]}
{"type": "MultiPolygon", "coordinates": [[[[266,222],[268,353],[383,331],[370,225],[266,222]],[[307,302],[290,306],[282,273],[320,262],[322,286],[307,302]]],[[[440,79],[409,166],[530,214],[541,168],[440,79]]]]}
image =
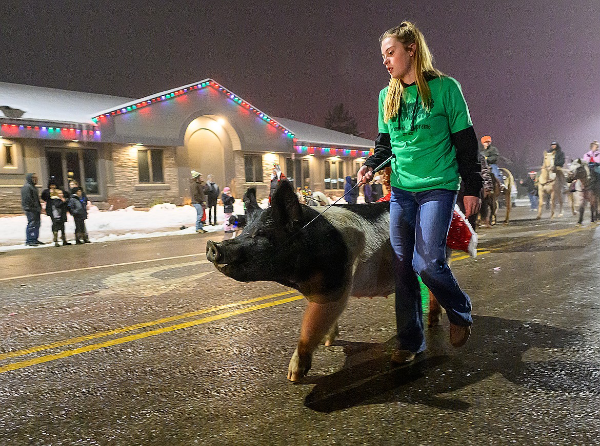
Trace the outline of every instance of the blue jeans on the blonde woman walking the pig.
{"type": "Polygon", "coordinates": [[[457,193],[392,188],[389,236],[394,249],[396,326],[400,348],[424,351],[425,332],[417,275],[446,310],[451,323],[469,326],[471,301],[446,263],[446,237],[457,193]]]}

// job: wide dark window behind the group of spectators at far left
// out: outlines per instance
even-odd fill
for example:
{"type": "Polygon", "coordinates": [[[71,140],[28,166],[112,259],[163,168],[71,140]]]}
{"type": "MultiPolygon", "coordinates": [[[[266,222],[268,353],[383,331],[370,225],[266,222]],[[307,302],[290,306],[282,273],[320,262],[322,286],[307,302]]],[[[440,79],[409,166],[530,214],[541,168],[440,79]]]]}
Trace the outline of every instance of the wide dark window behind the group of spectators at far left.
{"type": "Polygon", "coordinates": [[[83,187],[86,194],[100,194],[98,187],[98,152],[94,149],[46,149],[48,177],[68,188],[70,180],[83,187]]]}

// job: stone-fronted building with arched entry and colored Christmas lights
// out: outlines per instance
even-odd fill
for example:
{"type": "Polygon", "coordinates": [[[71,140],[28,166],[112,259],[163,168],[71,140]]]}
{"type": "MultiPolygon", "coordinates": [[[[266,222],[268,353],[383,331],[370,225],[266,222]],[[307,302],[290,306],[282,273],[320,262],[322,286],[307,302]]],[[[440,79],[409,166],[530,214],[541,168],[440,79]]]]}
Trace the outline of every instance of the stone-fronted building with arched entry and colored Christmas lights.
{"type": "Polygon", "coordinates": [[[27,172],[40,188],[77,180],[100,209],[187,203],[190,170],[261,198],[280,164],[296,186],[337,192],[373,146],[269,116],[212,79],[137,100],[0,82],[0,213],[21,212],[27,172]]]}

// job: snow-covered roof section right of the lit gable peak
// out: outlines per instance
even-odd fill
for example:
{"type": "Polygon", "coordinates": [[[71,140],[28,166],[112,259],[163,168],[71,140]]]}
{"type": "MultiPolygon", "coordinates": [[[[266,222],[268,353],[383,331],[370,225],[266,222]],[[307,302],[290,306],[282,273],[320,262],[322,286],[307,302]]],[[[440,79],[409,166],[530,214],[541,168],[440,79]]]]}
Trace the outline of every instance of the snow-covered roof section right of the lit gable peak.
{"type": "Polygon", "coordinates": [[[328,128],[283,117],[273,117],[273,119],[286,126],[286,128],[289,128],[296,135],[298,144],[311,146],[360,147],[361,149],[371,149],[371,147],[375,146],[375,141],[366,138],[329,130],[328,128]]]}

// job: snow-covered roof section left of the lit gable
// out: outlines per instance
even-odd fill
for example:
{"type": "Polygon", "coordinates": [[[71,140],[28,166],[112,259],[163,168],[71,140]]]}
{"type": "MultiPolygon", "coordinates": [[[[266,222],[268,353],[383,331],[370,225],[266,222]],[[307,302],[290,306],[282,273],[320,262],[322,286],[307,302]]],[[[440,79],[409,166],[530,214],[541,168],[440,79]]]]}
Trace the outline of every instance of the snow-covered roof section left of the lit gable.
{"type": "Polygon", "coordinates": [[[132,100],[118,96],[0,82],[0,118],[7,117],[11,120],[92,124],[92,116],[95,116],[98,110],[116,107],[132,100]],[[20,114],[18,110],[25,113],[20,114]]]}

